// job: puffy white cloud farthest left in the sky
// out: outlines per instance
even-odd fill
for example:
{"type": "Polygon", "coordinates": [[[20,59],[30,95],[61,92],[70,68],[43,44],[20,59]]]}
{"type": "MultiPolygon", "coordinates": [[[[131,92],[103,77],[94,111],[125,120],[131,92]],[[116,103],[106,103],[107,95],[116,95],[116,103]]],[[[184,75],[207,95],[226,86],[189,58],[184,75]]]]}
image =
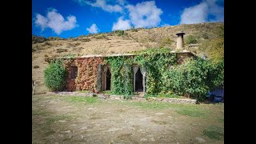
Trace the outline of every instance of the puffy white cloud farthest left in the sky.
{"type": "Polygon", "coordinates": [[[46,17],[41,14],[36,15],[35,24],[41,26],[42,30],[49,27],[54,30],[56,34],[61,34],[62,31],[72,30],[76,26],[76,18],[73,15],[66,17],[65,20],[62,14],[59,14],[57,10],[48,10],[46,17]]]}

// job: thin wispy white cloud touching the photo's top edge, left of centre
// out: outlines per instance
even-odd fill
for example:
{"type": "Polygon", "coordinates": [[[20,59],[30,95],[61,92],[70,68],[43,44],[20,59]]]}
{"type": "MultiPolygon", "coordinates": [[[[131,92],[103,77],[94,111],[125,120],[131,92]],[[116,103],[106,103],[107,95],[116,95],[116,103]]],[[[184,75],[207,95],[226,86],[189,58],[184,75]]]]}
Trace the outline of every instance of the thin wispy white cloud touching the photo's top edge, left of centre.
{"type": "MultiPolygon", "coordinates": [[[[100,7],[100,8],[102,8],[102,10],[106,10],[108,12],[122,12],[122,6],[119,6],[117,4],[107,5],[106,0],[96,0],[95,2],[89,2],[89,1],[85,1],[85,0],[77,0],[77,2],[81,5],[87,4],[87,5],[94,6],[94,7],[100,7]]],[[[124,3],[125,1],[119,0],[118,2],[121,4],[121,3],[124,3]]]]}

